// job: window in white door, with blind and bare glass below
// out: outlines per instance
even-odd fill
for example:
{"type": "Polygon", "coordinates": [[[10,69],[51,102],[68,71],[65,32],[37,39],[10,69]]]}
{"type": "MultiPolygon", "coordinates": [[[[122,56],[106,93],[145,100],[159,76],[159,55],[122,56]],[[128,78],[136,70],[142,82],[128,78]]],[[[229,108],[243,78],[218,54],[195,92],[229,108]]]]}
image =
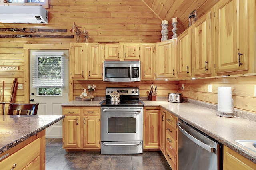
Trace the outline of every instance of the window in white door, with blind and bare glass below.
{"type": "MultiPolygon", "coordinates": [[[[38,95],[61,95],[63,87],[64,56],[59,52],[35,52],[33,61],[32,87],[38,88],[38,95]]],[[[33,53],[34,54],[34,53],[33,53]]]]}

